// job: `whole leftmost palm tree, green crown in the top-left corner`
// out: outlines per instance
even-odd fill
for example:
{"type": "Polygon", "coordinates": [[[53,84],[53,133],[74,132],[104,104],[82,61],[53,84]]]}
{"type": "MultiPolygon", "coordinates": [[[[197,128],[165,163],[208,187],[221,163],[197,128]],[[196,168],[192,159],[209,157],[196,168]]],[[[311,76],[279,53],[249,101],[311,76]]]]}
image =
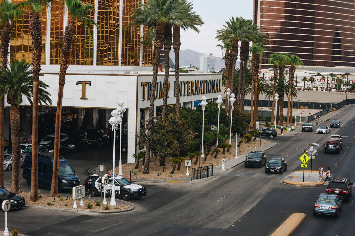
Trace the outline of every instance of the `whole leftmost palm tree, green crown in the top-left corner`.
{"type": "MultiPolygon", "coordinates": [[[[11,38],[11,21],[17,19],[22,11],[19,4],[3,0],[0,3],[0,68],[6,67],[9,55],[9,43],[11,38]]],[[[5,99],[0,99],[0,153],[4,153],[4,105],[5,99]]],[[[0,163],[4,162],[4,156],[0,155],[0,163]]],[[[0,168],[0,186],[4,186],[4,169],[0,168]]]]}

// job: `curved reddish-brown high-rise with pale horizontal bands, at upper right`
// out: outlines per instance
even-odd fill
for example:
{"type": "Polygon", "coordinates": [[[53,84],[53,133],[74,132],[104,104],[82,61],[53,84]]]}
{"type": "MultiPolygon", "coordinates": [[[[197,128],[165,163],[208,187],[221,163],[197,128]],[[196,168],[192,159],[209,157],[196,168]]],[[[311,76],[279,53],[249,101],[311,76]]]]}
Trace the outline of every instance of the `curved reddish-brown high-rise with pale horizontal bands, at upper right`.
{"type": "Polygon", "coordinates": [[[305,66],[355,66],[354,0],[254,0],[253,20],[266,34],[268,51],[296,54],[305,66]]]}

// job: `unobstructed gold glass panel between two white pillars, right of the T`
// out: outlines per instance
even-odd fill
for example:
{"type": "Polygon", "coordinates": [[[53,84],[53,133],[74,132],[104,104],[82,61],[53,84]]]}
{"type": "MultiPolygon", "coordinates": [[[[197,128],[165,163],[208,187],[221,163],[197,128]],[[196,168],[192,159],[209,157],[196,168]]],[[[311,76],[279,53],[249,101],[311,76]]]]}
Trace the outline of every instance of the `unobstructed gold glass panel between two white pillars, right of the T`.
{"type": "Polygon", "coordinates": [[[100,0],[97,7],[97,65],[118,65],[119,0],[100,0]]]}

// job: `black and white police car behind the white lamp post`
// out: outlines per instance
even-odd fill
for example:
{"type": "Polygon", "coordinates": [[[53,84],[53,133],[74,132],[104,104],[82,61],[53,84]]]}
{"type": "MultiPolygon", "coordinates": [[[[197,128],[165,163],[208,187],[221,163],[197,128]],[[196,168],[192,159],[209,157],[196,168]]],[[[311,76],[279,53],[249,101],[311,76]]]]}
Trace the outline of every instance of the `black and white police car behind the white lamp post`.
{"type": "MultiPolygon", "coordinates": [[[[106,193],[111,194],[112,191],[112,175],[105,174],[109,178],[109,183],[106,185],[106,193]]],[[[138,184],[132,184],[122,176],[115,174],[115,195],[121,197],[123,200],[128,201],[131,198],[140,198],[147,195],[146,187],[138,184]]],[[[97,174],[89,175],[85,180],[85,188],[90,196],[99,196],[105,191],[104,185],[101,183],[102,178],[97,174]]]]}

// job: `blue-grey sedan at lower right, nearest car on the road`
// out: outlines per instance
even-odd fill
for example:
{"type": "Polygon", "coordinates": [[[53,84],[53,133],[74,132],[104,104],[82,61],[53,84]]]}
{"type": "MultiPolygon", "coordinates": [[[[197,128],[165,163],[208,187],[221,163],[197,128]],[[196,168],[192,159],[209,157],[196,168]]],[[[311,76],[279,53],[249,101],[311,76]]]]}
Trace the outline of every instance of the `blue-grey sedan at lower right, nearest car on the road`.
{"type": "MultiPolygon", "coordinates": [[[[317,196],[318,197],[318,196],[317,196]]],[[[343,201],[336,194],[321,194],[314,203],[313,215],[334,215],[339,217],[343,201]]]]}

